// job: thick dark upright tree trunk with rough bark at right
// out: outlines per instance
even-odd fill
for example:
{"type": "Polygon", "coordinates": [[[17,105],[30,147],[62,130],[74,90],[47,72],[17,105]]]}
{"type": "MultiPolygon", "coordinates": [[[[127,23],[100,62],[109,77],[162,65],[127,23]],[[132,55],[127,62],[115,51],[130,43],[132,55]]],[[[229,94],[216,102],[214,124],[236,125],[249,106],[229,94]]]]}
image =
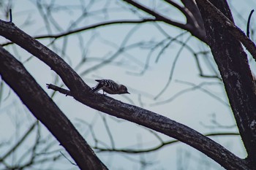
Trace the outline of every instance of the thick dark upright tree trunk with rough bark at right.
{"type": "MultiPolygon", "coordinates": [[[[204,7],[204,0],[197,5],[206,28],[208,45],[214,55],[227,96],[236,118],[241,138],[248,153],[247,161],[255,169],[256,160],[256,95],[255,83],[249,63],[238,39],[214,19],[204,7]]],[[[227,18],[233,22],[227,1],[211,1],[227,18]]]]}

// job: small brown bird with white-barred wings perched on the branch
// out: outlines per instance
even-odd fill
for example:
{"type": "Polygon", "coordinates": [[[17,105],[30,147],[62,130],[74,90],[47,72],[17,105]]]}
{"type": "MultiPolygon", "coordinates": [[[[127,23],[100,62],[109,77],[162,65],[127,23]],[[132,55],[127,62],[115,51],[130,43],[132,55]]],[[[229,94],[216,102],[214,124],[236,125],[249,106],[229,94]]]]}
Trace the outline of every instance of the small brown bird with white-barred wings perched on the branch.
{"type": "Polygon", "coordinates": [[[114,82],[113,80],[95,80],[98,83],[94,88],[91,89],[91,92],[97,93],[99,90],[103,90],[104,92],[109,94],[124,94],[128,93],[127,87],[124,85],[118,85],[118,83],[114,82]]]}

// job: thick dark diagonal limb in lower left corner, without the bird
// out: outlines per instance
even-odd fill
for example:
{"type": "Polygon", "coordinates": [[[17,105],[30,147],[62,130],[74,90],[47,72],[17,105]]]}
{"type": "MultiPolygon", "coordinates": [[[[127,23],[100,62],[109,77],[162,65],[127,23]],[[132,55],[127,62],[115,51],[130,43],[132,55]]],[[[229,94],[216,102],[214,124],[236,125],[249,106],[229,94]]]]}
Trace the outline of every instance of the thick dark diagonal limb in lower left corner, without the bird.
{"type": "MultiPolygon", "coordinates": [[[[26,42],[24,42],[26,43],[26,42]]],[[[49,98],[22,63],[0,46],[0,75],[23,104],[69,152],[80,169],[107,169],[59,107],[49,98]]]]}

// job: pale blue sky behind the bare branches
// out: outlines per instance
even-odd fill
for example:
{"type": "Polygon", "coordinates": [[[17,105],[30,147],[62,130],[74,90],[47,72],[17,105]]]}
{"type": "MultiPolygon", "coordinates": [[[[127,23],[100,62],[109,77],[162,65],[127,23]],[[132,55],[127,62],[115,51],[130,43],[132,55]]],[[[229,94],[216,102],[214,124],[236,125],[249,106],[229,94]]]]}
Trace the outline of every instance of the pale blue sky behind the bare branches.
{"type": "MultiPolygon", "coordinates": [[[[7,0],[4,0],[7,2],[7,0]]],[[[101,9],[102,3],[105,1],[97,1],[89,12],[97,13],[98,9],[101,9]]],[[[61,30],[66,30],[70,23],[78,18],[80,12],[76,12],[74,9],[69,11],[70,1],[56,1],[56,4],[61,3],[61,7],[66,7],[68,12],[56,12],[53,14],[54,18],[57,20],[61,28],[53,28],[52,32],[58,34],[61,30]]],[[[255,7],[255,2],[246,0],[233,0],[229,1],[232,4],[233,9],[247,18],[251,9],[255,7]]],[[[14,7],[12,7],[13,22],[16,26],[19,26],[26,31],[27,34],[31,36],[39,36],[47,34],[47,30],[43,23],[42,17],[40,17],[37,8],[35,7],[35,1],[13,1],[14,7]],[[24,26],[24,20],[29,18],[31,25],[24,26]]],[[[72,5],[80,9],[79,1],[72,1],[72,5]]],[[[99,12],[97,15],[94,15],[94,18],[88,18],[83,20],[78,24],[79,28],[81,26],[89,26],[94,23],[100,23],[107,20],[120,20],[120,19],[135,19],[138,18],[136,15],[133,15],[130,11],[127,12],[123,8],[127,7],[122,1],[110,1],[108,7],[113,7],[118,9],[116,12],[110,12],[109,15],[104,16],[99,12]]],[[[176,12],[176,11],[173,11],[176,12]]],[[[141,15],[145,16],[143,12],[140,12],[141,15]]],[[[1,19],[3,18],[2,13],[0,13],[1,19]]],[[[238,17],[236,12],[233,12],[233,17],[236,20],[238,26],[241,29],[245,30],[246,23],[244,23],[241,18],[238,17]]],[[[255,17],[255,16],[254,16],[255,17]]],[[[180,16],[173,15],[173,18],[181,18],[180,16]]],[[[255,22],[252,20],[252,26],[255,22]]],[[[164,23],[158,23],[161,28],[163,28],[167,34],[170,36],[177,36],[183,31],[167,26],[164,23]]],[[[61,54],[60,50],[53,49],[56,53],[64,57],[64,59],[75,69],[75,67],[80,63],[80,58],[82,52],[80,50],[80,42],[83,39],[84,42],[84,52],[88,58],[88,62],[83,64],[83,66],[78,69],[78,73],[82,73],[86,69],[91,68],[95,64],[99,63],[99,58],[110,58],[116,52],[116,46],[120,46],[124,37],[127,36],[127,33],[134,28],[134,25],[115,25],[97,28],[94,31],[84,31],[80,33],[80,38],[73,35],[69,36],[67,43],[67,50],[65,55],[61,54]],[[100,37],[100,38],[99,38],[100,37]],[[89,42],[89,39],[93,41],[89,42]],[[111,42],[111,43],[110,43],[111,42]],[[113,43],[113,44],[112,44],[113,43]]],[[[184,34],[180,40],[185,40],[189,34],[184,34]]],[[[157,30],[157,26],[146,23],[140,26],[132,36],[129,36],[129,40],[126,45],[131,45],[134,42],[159,42],[164,39],[164,36],[157,30]]],[[[44,45],[49,45],[48,40],[39,40],[44,45]]],[[[2,37],[0,42],[6,42],[2,37]]],[[[56,47],[61,49],[63,46],[64,39],[56,40],[56,47]]],[[[209,50],[202,42],[198,42],[197,39],[191,38],[189,40],[189,45],[197,52],[200,50],[209,50]]],[[[220,102],[220,99],[227,102],[225,97],[225,91],[221,85],[206,85],[203,86],[206,90],[214,93],[219,99],[209,96],[207,93],[203,93],[201,90],[192,90],[188,93],[185,93],[181,96],[178,96],[173,101],[167,104],[154,105],[156,102],[165,101],[172,96],[175,96],[176,93],[184,90],[186,88],[192,88],[189,85],[184,85],[184,83],[177,82],[177,80],[192,82],[195,85],[198,85],[200,82],[218,82],[217,80],[206,80],[198,76],[198,70],[195,65],[195,59],[188,50],[184,49],[181,52],[180,57],[176,63],[176,69],[173,74],[172,82],[167,88],[165,93],[162,94],[157,100],[154,100],[154,96],[162,90],[165,86],[165,83],[168,80],[170,75],[170,69],[173,64],[174,58],[178,53],[180,45],[173,43],[168,49],[161,55],[159,61],[156,63],[157,52],[153,53],[151,60],[148,62],[148,70],[143,74],[143,76],[138,76],[132,73],[139,73],[143,70],[143,63],[146,62],[148,55],[148,50],[145,47],[138,47],[132,50],[128,50],[127,53],[118,55],[113,63],[110,63],[108,66],[103,66],[101,69],[94,70],[89,72],[89,74],[83,75],[83,80],[86,81],[90,86],[94,86],[97,83],[94,82],[94,79],[98,78],[107,78],[116,80],[117,82],[127,85],[130,95],[123,96],[111,96],[118,100],[131,103],[132,101],[135,105],[144,107],[145,109],[150,109],[153,112],[157,112],[161,115],[170,117],[172,120],[176,120],[179,123],[188,125],[195,130],[200,131],[200,133],[208,132],[236,132],[236,128],[206,128],[206,125],[213,125],[211,120],[213,115],[216,115],[218,123],[221,125],[234,125],[233,115],[230,112],[230,109],[220,102]],[[132,59],[131,59],[132,58],[132,59]],[[134,61],[136,60],[136,62],[134,61]],[[116,63],[118,65],[116,66],[116,63]],[[125,64],[124,64],[125,63],[125,64]],[[141,95],[141,98],[139,96],[141,95]],[[129,98],[129,99],[127,99],[129,98]],[[141,105],[143,102],[143,105],[141,105]],[[152,105],[153,104],[153,105],[152,105]]],[[[13,55],[15,55],[15,50],[17,50],[20,55],[18,59],[22,62],[26,61],[31,55],[26,53],[26,51],[20,49],[20,47],[6,47],[7,50],[10,50],[13,55]]],[[[211,55],[209,55],[211,57],[211,55]]],[[[201,63],[204,64],[203,57],[200,58],[201,63]]],[[[34,76],[39,85],[49,94],[53,93],[52,90],[46,88],[46,83],[53,83],[55,80],[55,73],[50,70],[48,66],[39,61],[37,58],[31,58],[31,60],[24,63],[26,69],[34,76]]],[[[211,73],[206,65],[203,66],[203,69],[207,73],[211,73]]],[[[61,85],[61,80],[59,80],[56,85],[61,85]]],[[[4,91],[2,93],[2,101],[0,105],[0,129],[8,129],[8,131],[0,131],[0,136],[3,136],[3,140],[7,141],[11,137],[11,142],[15,143],[15,134],[23,134],[29,125],[34,122],[34,117],[29,113],[26,107],[20,103],[20,100],[14,93],[11,92],[7,86],[4,86],[4,91]],[[12,104],[14,107],[9,107],[12,104]],[[15,123],[21,122],[20,128],[15,129],[15,123]]],[[[83,104],[78,103],[72,97],[66,97],[59,93],[56,94],[53,98],[56,101],[56,104],[61,108],[67,117],[76,125],[78,131],[85,137],[86,141],[89,144],[94,145],[94,140],[92,135],[88,132],[89,128],[85,124],[81,124],[81,120],[85,120],[87,123],[94,123],[94,133],[99,138],[99,140],[104,141],[108,146],[110,146],[110,138],[107,134],[104,123],[102,122],[102,117],[105,117],[108,121],[110,130],[113,133],[113,138],[116,142],[116,148],[150,148],[155,147],[159,142],[153,134],[147,131],[145,128],[141,128],[140,125],[135,123],[129,123],[126,120],[120,120],[116,117],[110,117],[108,115],[99,113],[94,109],[84,106],[83,104]]],[[[41,129],[45,136],[48,135],[47,129],[42,126],[41,129]]],[[[163,140],[168,141],[170,137],[159,134],[163,140]]],[[[33,136],[29,139],[25,145],[29,145],[29,142],[33,142],[33,136]]],[[[18,139],[18,137],[17,137],[18,139]]],[[[219,142],[224,147],[226,147],[231,152],[234,152],[241,158],[245,157],[244,148],[239,141],[238,136],[230,137],[214,137],[216,142],[219,142]]],[[[51,139],[54,140],[54,139],[51,139]]],[[[99,144],[99,146],[101,146],[99,144]]],[[[24,147],[26,148],[26,146],[24,147]]],[[[56,150],[61,149],[62,152],[67,155],[56,142],[56,145],[53,147],[56,150]]],[[[7,150],[7,148],[0,148],[1,150],[7,150]]],[[[140,164],[130,161],[129,159],[134,158],[145,158],[145,160],[152,161],[154,164],[151,166],[146,166],[145,169],[176,169],[177,165],[182,155],[187,153],[191,154],[189,161],[189,169],[222,169],[217,163],[214,163],[209,158],[206,158],[205,155],[197,152],[186,144],[178,143],[173,144],[169,147],[163,147],[159,152],[153,152],[150,154],[143,155],[124,155],[118,153],[98,153],[99,158],[105,163],[109,169],[143,169],[140,167],[140,164]],[[128,158],[127,158],[128,157],[128,158]],[[209,161],[210,166],[206,166],[207,163],[199,164],[198,161],[209,161]]],[[[70,164],[66,159],[62,159],[61,163],[64,163],[65,168],[75,169],[72,164],[70,164]]],[[[63,168],[63,165],[57,164],[59,169],[63,168]]],[[[1,165],[0,165],[1,169],[1,165]]]]}

